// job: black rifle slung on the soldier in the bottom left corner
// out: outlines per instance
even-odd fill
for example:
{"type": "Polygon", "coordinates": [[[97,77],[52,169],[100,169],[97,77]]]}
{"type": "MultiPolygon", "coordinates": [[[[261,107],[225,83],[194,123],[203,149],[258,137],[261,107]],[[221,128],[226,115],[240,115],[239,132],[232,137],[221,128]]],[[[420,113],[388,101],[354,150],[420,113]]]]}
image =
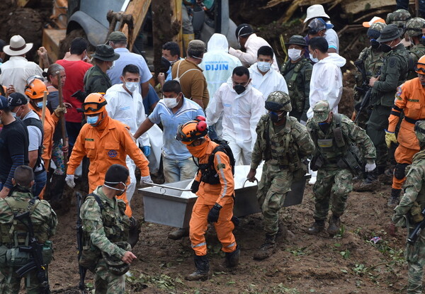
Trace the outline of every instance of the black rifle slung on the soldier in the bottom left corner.
{"type": "Polygon", "coordinates": [[[42,260],[42,244],[37,242],[34,236],[33,222],[31,222],[30,212],[21,213],[20,215],[15,215],[15,220],[19,220],[28,228],[30,233],[30,240],[27,247],[19,247],[19,251],[29,252],[32,260],[28,262],[25,266],[18,268],[16,273],[19,277],[23,277],[26,273],[30,271],[37,271],[38,284],[40,286],[40,294],[50,294],[50,285],[49,279],[47,278],[47,268],[46,264],[42,260]],[[27,222],[24,222],[27,220],[27,222]]]}

